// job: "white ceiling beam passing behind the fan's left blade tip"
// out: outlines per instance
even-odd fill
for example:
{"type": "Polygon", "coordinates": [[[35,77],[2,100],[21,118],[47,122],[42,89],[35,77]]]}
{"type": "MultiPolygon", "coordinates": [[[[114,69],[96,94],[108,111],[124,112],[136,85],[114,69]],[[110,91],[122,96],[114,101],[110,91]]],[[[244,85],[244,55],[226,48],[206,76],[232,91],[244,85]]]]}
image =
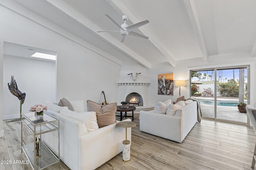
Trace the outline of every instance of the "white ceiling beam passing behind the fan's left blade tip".
{"type": "Polygon", "coordinates": [[[52,4],[53,6],[55,6],[56,8],[58,8],[59,10],[61,10],[62,12],[64,12],[65,14],[67,14],[68,16],[70,16],[71,18],[73,18],[74,20],[78,21],[79,23],[81,23],[91,31],[93,31],[95,35],[98,35],[103,39],[105,39],[108,43],[115,46],[120,51],[122,51],[123,53],[125,53],[126,55],[128,55],[129,57],[137,61],[138,63],[142,64],[146,68],[151,68],[151,64],[148,61],[140,57],[140,55],[132,51],[130,48],[126,47],[126,45],[124,45],[123,43],[120,43],[120,41],[116,40],[109,33],[98,34],[96,30],[101,30],[101,28],[98,27],[98,25],[96,25],[92,21],[90,21],[88,18],[80,14],[74,8],[69,6],[66,2],[62,0],[46,0],[46,1],[52,4]]]}

